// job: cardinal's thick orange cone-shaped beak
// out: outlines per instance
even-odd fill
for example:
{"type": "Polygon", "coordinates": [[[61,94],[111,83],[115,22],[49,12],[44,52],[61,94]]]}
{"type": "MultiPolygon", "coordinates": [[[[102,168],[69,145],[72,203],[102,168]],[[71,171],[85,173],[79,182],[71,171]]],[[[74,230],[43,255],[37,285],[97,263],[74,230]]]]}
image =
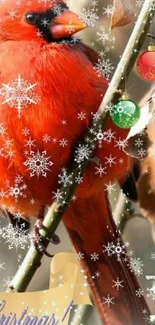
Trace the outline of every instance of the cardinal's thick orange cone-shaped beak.
{"type": "Polygon", "coordinates": [[[74,12],[65,9],[58,17],[54,18],[50,31],[53,39],[68,38],[75,33],[87,28],[87,25],[74,12]]]}

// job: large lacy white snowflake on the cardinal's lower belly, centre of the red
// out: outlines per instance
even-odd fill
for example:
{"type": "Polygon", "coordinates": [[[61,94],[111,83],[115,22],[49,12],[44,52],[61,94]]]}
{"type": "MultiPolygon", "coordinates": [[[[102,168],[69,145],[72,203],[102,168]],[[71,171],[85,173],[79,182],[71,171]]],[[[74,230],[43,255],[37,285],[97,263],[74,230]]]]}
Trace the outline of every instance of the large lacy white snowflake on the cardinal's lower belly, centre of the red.
{"type": "Polygon", "coordinates": [[[53,162],[49,159],[46,150],[42,152],[39,152],[39,150],[37,152],[30,151],[30,156],[24,162],[24,165],[30,171],[30,177],[35,175],[46,177],[47,171],[51,171],[49,167],[53,165],[53,162]]]}

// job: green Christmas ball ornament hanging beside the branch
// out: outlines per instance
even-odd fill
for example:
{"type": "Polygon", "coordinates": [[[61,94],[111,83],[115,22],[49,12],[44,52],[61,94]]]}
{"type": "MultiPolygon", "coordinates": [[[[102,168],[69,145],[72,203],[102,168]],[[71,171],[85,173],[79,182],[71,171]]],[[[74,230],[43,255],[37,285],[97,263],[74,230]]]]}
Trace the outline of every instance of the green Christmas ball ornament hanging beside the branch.
{"type": "Polygon", "coordinates": [[[112,108],[111,118],[122,129],[130,129],[140,118],[140,108],[127,94],[112,108]]]}

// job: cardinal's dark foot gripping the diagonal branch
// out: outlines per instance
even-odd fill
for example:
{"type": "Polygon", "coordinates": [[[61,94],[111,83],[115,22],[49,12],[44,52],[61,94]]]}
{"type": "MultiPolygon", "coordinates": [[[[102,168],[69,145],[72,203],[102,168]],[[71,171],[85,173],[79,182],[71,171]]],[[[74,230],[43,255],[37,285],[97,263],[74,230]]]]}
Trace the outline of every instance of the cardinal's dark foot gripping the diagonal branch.
{"type": "Polygon", "coordinates": [[[33,244],[34,244],[35,248],[37,249],[37,251],[39,251],[41,254],[44,254],[48,257],[53,257],[54,255],[51,255],[50,253],[47,252],[45,242],[48,240],[50,243],[52,243],[54,245],[58,245],[60,243],[60,239],[55,234],[53,235],[53,237],[51,239],[49,239],[49,238],[44,239],[40,234],[41,229],[47,231],[46,226],[43,225],[43,221],[39,219],[37,221],[37,224],[34,227],[34,233],[33,233],[33,238],[32,238],[33,244]]]}

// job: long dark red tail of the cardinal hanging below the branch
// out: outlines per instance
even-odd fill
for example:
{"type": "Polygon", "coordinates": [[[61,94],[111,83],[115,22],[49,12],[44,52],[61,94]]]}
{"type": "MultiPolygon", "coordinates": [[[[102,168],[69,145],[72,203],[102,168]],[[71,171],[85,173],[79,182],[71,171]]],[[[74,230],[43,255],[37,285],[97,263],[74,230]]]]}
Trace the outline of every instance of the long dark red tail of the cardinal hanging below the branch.
{"type": "Polygon", "coordinates": [[[144,325],[149,315],[136,277],[129,268],[125,244],[103,193],[72,202],[64,222],[104,325],[144,325]],[[77,255],[78,256],[78,255],[77,255]]]}

